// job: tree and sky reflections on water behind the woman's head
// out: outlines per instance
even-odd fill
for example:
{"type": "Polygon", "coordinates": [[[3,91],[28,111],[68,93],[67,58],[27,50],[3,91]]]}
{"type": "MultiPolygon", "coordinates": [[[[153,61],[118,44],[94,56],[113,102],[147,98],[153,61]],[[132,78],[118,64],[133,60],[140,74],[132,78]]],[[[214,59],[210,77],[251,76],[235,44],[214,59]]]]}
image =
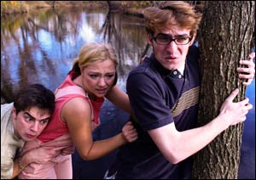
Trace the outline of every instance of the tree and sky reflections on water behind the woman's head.
{"type": "Polygon", "coordinates": [[[27,83],[55,90],[88,42],[110,42],[117,49],[118,83],[124,88],[146,47],[143,21],[82,8],[40,10],[1,20],[1,102],[12,101],[27,83]]]}

